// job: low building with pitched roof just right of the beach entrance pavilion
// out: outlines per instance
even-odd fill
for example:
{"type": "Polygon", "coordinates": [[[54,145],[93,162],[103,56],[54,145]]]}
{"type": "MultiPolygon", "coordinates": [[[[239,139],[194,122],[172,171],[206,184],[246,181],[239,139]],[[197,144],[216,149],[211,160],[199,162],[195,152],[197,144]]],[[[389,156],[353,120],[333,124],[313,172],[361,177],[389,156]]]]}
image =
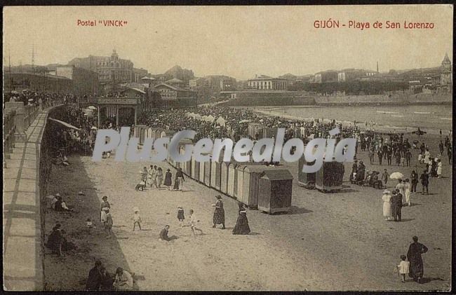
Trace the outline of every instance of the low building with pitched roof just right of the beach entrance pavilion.
{"type": "Polygon", "coordinates": [[[166,83],[155,85],[154,90],[160,93],[163,108],[196,107],[197,92],[195,90],[166,83]]]}

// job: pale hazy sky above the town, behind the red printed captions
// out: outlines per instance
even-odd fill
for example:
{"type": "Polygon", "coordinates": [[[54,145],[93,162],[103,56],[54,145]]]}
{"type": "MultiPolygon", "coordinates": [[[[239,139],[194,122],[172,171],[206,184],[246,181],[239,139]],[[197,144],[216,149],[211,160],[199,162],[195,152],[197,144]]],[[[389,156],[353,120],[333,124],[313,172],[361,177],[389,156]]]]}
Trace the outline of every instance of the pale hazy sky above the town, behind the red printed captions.
{"type": "Polygon", "coordinates": [[[4,64],[67,64],[111,55],[152,74],[178,64],[196,76],[314,74],[328,69],[412,69],[452,61],[452,10],[445,5],[378,6],[10,6],[4,7],[4,64]],[[339,28],[316,29],[316,20],[339,28]],[[96,27],[78,26],[95,20],[96,27]],[[99,20],[124,20],[105,27],[99,20]],[[349,28],[349,21],[370,28],[349,28]],[[387,29],[386,22],[400,29],[387,29]],[[373,28],[382,22],[381,29],[373,28]],[[434,29],[405,29],[429,22],[434,29]],[[345,27],[342,27],[345,24],[345,27]]]}

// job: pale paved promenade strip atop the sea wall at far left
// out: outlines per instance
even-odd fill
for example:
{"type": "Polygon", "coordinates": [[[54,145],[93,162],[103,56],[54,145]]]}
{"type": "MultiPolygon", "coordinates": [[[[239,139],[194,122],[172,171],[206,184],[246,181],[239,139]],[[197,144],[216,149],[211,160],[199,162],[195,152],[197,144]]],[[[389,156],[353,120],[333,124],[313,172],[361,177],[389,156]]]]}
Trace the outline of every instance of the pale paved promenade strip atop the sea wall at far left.
{"type": "Polygon", "coordinates": [[[37,114],[4,167],[4,289],[44,289],[39,160],[48,109],[37,114]]]}

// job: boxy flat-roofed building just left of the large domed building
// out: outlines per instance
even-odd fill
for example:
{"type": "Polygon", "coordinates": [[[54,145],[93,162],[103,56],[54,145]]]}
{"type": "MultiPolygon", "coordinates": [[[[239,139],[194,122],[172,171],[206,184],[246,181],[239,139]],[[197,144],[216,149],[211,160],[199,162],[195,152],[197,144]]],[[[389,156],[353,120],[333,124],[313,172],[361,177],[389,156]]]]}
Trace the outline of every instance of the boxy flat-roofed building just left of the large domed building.
{"type": "Polygon", "coordinates": [[[63,76],[72,80],[75,95],[98,95],[100,94],[100,82],[98,73],[74,66],[55,67],[55,75],[63,76]]]}

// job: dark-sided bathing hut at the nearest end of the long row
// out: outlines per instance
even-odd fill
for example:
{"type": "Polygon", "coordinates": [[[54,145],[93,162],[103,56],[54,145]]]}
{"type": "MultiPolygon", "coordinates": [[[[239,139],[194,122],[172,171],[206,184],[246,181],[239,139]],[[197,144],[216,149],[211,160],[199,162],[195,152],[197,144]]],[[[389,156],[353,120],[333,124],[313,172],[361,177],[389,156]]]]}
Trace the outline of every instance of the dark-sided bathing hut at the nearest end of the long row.
{"type": "Polygon", "coordinates": [[[289,212],[293,175],[286,169],[265,170],[258,183],[258,210],[289,212]]]}

